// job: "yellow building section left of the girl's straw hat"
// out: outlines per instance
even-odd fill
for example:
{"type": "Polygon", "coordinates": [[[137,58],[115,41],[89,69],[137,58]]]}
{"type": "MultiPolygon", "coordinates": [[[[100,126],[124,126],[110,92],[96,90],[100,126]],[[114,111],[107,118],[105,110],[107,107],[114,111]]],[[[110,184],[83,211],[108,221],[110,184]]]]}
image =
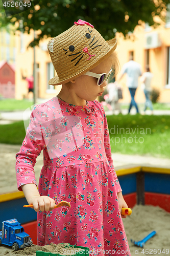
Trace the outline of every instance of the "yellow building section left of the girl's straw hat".
{"type": "MultiPolygon", "coordinates": [[[[27,81],[23,77],[33,75],[34,49],[29,44],[34,39],[34,31],[30,34],[16,32],[16,66],[15,66],[15,98],[27,97],[27,81]]],[[[47,51],[47,43],[51,38],[40,41],[39,47],[35,47],[36,62],[36,91],[37,98],[48,99],[55,97],[61,90],[61,86],[50,86],[48,80],[55,76],[55,70],[47,51]]]]}

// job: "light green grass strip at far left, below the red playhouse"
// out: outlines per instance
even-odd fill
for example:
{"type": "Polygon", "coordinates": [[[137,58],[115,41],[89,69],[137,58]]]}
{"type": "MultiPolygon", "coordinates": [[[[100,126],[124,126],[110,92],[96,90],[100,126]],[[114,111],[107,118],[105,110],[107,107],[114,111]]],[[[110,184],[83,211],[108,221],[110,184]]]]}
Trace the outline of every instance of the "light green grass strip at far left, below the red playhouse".
{"type": "Polygon", "coordinates": [[[32,100],[27,99],[2,99],[0,100],[0,111],[26,110],[33,104],[32,100]]]}

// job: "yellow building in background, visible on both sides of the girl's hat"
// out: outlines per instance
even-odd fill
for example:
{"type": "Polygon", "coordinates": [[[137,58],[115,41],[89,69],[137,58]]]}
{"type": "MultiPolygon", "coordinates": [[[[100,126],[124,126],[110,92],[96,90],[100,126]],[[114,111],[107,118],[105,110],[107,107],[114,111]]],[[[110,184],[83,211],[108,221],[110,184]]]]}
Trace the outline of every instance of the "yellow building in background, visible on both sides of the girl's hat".
{"type": "MultiPolygon", "coordinates": [[[[170,17],[170,15],[169,15],[170,17]]],[[[38,32],[37,32],[38,33],[38,32]]],[[[142,71],[145,72],[145,66],[150,66],[154,74],[152,87],[160,91],[160,102],[169,102],[170,99],[170,19],[156,29],[141,24],[136,26],[134,32],[128,34],[130,39],[124,39],[121,33],[116,33],[118,40],[117,54],[122,67],[129,60],[129,55],[134,56],[134,60],[140,63],[142,71]]],[[[16,99],[22,99],[27,96],[27,81],[22,76],[28,77],[33,74],[34,49],[27,48],[34,38],[34,31],[30,34],[16,33],[16,99]]],[[[47,43],[51,38],[40,41],[39,47],[35,47],[36,58],[36,88],[38,98],[52,98],[59,93],[61,86],[50,86],[48,80],[55,75],[55,70],[51,62],[50,54],[47,51],[47,43]]],[[[117,75],[118,79],[120,74],[117,75]]],[[[126,76],[120,81],[123,87],[123,99],[120,102],[130,102],[131,97],[126,86],[126,76]]],[[[135,98],[137,102],[144,102],[144,93],[139,86],[135,98]]]]}

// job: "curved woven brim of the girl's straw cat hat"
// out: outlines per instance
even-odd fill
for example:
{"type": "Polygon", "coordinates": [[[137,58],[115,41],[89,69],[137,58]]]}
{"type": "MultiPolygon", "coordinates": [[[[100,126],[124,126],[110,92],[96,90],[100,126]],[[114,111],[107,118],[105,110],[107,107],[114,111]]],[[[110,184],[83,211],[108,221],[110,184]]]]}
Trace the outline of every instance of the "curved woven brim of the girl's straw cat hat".
{"type": "Polygon", "coordinates": [[[104,56],[102,56],[98,61],[96,61],[95,63],[93,63],[91,66],[89,66],[88,68],[84,69],[82,72],[78,73],[77,75],[74,75],[72,77],[69,77],[68,79],[64,79],[64,80],[60,80],[58,75],[56,75],[55,77],[51,78],[48,81],[48,84],[51,84],[52,86],[58,86],[60,84],[63,83],[67,83],[69,81],[71,81],[72,79],[75,79],[76,77],[79,77],[81,75],[83,75],[84,73],[86,73],[87,71],[95,68],[96,66],[98,66],[103,60],[105,60],[106,58],[109,57],[109,55],[114,52],[114,50],[117,47],[117,39],[113,38],[111,40],[107,41],[108,45],[110,46],[110,51],[108,51],[104,56]]]}

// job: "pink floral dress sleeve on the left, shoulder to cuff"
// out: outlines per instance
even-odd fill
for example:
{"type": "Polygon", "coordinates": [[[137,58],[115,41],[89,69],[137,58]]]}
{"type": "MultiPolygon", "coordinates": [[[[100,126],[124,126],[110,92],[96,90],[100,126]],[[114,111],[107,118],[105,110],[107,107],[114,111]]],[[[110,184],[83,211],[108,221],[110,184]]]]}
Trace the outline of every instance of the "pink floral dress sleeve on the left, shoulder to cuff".
{"type": "Polygon", "coordinates": [[[20,151],[16,154],[16,179],[20,191],[21,185],[36,184],[34,165],[36,158],[50,140],[53,121],[53,111],[47,104],[35,106],[30,116],[26,137],[20,151]]]}

